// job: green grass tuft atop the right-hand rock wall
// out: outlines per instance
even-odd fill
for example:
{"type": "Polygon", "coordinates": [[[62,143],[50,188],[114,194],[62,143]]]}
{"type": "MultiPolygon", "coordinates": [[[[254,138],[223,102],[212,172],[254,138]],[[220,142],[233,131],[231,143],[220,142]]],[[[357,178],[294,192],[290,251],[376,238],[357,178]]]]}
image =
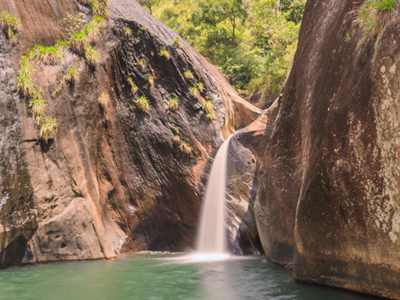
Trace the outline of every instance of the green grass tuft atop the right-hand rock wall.
{"type": "Polygon", "coordinates": [[[398,0],[367,0],[357,10],[355,24],[373,35],[383,28],[395,11],[398,0]]]}

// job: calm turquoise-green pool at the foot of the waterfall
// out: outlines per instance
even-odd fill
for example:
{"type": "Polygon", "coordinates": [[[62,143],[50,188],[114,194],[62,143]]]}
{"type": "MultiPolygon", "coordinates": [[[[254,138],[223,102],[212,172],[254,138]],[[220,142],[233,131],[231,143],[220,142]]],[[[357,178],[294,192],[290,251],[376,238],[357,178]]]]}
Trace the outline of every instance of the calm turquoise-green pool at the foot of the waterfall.
{"type": "Polygon", "coordinates": [[[365,300],[291,280],[264,258],[181,263],[171,255],[47,264],[0,272],[1,300],[365,300]]]}

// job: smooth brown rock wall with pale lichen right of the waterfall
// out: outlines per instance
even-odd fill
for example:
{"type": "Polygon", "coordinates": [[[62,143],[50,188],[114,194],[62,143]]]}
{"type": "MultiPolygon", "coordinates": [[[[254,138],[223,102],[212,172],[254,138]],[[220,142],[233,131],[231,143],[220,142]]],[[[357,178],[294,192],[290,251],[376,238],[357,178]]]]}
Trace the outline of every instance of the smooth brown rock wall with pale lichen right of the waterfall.
{"type": "Polygon", "coordinates": [[[400,299],[400,14],[366,33],[362,2],[307,2],[255,214],[295,279],[400,299]]]}

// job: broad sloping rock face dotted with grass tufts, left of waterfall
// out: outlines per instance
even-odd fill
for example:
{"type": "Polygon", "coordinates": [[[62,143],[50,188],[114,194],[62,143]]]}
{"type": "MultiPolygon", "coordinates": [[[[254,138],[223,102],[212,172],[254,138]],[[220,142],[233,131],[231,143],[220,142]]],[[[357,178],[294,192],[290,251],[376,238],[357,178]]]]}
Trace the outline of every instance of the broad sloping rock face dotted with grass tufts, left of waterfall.
{"type": "Polygon", "coordinates": [[[207,162],[223,138],[261,114],[183,40],[174,47],[177,34],[136,1],[109,6],[108,28],[94,45],[97,66],[70,50],[55,66],[32,60],[46,114],[59,123],[46,143],[28,100],[16,93],[19,61],[34,44],[66,37],[58,24],[67,12],[89,20],[90,9],[74,0],[0,3],[22,22],[16,46],[0,35],[0,268],[193,247],[207,162]],[[79,81],[53,96],[73,64],[79,81]],[[185,78],[187,70],[194,79],[185,78]],[[137,108],[128,77],[139,88],[136,96],[150,100],[149,113],[137,108]],[[195,98],[189,88],[199,82],[204,91],[195,98]],[[98,103],[102,92],[110,95],[106,105],[98,103]],[[168,108],[173,96],[177,112],[168,108]],[[202,109],[206,99],[214,103],[215,121],[202,109]],[[190,154],[179,149],[177,134],[190,154]]]}

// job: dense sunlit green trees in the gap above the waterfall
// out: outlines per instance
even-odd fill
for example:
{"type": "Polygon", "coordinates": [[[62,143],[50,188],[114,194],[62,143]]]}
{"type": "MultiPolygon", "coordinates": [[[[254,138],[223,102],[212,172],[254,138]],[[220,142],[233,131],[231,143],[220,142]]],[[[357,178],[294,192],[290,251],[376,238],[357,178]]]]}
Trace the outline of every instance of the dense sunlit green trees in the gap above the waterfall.
{"type": "Polygon", "coordinates": [[[140,0],[237,90],[278,94],[297,48],[305,0],[140,0]]]}

